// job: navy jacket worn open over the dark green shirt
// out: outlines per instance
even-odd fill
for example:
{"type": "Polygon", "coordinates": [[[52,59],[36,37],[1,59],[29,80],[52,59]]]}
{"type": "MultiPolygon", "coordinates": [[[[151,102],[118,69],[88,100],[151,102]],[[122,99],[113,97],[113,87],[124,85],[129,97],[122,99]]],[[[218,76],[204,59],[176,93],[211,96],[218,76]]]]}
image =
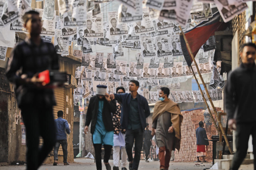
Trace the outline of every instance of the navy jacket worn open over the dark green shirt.
{"type": "MultiPolygon", "coordinates": [[[[128,117],[130,112],[130,102],[131,102],[131,94],[124,93],[124,94],[114,94],[115,99],[119,102],[122,102],[122,109],[121,109],[121,128],[127,129],[128,126],[128,117]]],[[[141,95],[137,95],[138,99],[138,111],[139,111],[139,118],[141,120],[142,129],[146,128],[146,118],[150,115],[149,104],[145,97],[141,95]]]]}

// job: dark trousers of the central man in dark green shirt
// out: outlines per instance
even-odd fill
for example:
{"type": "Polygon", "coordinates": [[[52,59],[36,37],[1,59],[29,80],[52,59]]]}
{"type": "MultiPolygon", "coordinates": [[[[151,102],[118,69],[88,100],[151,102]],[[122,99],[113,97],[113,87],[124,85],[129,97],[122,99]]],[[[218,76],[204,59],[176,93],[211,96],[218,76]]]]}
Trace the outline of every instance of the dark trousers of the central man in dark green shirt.
{"type": "Polygon", "coordinates": [[[133,161],[133,169],[137,170],[139,167],[139,160],[141,159],[141,149],[143,144],[143,130],[142,128],[126,130],[125,148],[129,161],[133,161]],[[135,154],[133,158],[133,142],[135,139],[135,154]]]}

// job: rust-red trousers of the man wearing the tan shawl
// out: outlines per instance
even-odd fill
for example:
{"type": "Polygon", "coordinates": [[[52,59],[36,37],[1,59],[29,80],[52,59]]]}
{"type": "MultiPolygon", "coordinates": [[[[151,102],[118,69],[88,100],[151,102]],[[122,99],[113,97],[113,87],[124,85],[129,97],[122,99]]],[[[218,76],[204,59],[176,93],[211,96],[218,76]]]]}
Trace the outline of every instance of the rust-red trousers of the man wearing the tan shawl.
{"type": "Polygon", "coordinates": [[[169,163],[171,160],[171,151],[165,148],[165,146],[162,146],[159,148],[159,161],[160,161],[160,169],[168,169],[169,168],[169,163]]]}

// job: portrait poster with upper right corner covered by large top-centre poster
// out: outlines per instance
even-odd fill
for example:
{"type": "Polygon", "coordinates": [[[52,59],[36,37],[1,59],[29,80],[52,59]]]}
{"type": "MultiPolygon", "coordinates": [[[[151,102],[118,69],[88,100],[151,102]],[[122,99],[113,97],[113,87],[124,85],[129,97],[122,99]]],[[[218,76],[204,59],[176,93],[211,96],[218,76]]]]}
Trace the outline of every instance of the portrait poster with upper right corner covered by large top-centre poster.
{"type": "Polygon", "coordinates": [[[110,36],[124,35],[128,33],[127,24],[117,24],[118,12],[108,12],[110,36]]]}

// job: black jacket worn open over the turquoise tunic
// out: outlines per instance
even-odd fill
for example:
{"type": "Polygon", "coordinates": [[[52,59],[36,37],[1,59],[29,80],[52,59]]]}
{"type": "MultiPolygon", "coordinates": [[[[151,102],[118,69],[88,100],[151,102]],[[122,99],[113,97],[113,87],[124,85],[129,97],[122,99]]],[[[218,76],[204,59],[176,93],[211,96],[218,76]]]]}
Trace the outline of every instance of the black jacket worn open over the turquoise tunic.
{"type": "MultiPolygon", "coordinates": [[[[102,109],[102,120],[105,125],[106,131],[113,131],[114,125],[112,121],[111,112],[114,113],[116,111],[117,104],[115,100],[107,102],[105,97],[103,100],[104,100],[104,105],[102,109]]],[[[91,123],[91,134],[93,134],[95,125],[97,122],[98,107],[99,107],[98,96],[91,97],[89,106],[87,108],[86,117],[85,117],[85,126],[89,126],[91,123]]]]}

